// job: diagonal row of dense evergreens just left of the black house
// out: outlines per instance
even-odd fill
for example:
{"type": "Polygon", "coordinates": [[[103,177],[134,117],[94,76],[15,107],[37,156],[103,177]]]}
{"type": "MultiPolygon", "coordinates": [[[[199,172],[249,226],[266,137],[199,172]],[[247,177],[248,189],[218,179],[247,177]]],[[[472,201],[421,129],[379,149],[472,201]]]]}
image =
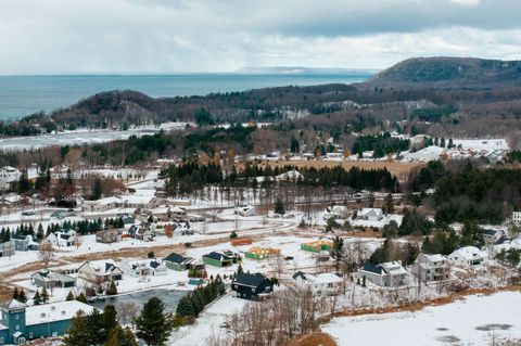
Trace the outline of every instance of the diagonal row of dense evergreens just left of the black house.
{"type": "Polygon", "coordinates": [[[198,317],[204,307],[225,293],[225,284],[219,275],[203,287],[183,296],[177,305],[176,313],[182,318],[198,317]]]}

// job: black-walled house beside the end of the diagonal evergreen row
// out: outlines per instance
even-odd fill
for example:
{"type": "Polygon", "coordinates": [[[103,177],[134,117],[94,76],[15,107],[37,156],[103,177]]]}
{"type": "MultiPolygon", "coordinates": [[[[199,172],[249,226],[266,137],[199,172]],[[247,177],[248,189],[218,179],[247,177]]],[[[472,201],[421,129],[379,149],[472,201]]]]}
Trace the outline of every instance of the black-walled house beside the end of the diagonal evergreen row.
{"type": "Polygon", "coordinates": [[[262,273],[240,272],[231,282],[236,297],[256,300],[274,292],[274,283],[262,273]]]}

